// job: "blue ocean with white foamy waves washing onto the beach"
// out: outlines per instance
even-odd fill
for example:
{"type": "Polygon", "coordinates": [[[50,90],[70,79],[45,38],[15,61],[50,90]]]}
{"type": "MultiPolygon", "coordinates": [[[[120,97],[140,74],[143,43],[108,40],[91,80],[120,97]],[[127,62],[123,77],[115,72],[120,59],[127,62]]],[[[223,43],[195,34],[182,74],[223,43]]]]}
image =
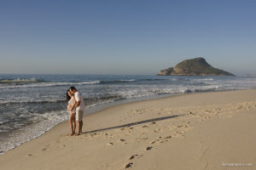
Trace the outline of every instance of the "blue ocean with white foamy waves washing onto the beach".
{"type": "MultiPolygon", "coordinates": [[[[166,95],[256,88],[256,77],[0,75],[0,154],[67,121],[66,92],[84,96],[85,114],[166,95]]],[[[68,133],[68,132],[67,132],[68,133]]]]}

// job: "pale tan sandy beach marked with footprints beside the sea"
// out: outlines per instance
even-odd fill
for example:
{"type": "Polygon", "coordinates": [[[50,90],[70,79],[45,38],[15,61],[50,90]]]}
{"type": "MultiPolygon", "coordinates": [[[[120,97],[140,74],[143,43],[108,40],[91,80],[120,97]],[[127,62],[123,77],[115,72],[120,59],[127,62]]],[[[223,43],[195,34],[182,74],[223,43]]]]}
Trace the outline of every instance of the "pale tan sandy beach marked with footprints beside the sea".
{"type": "Polygon", "coordinates": [[[0,169],[255,169],[255,122],[256,90],[118,105],[85,116],[79,137],[64,122],[10,150],[0,169]]]}

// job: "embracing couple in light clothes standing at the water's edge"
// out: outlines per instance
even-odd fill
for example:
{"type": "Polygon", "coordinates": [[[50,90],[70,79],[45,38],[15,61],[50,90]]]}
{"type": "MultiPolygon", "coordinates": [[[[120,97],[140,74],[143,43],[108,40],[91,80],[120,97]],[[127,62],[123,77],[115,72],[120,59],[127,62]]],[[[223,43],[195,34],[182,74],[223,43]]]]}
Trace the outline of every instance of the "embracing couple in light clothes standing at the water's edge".
{"type": "Polygon", "coordinates": [[[82,133],[84,116],[84,98],[75,87],[67,90],[67,111],[69,111],[69,125],[71,133],[69,136],[79,136],[82,133]],[[76,122],[78,123],[78,133],[76,132],[76,122]]]}

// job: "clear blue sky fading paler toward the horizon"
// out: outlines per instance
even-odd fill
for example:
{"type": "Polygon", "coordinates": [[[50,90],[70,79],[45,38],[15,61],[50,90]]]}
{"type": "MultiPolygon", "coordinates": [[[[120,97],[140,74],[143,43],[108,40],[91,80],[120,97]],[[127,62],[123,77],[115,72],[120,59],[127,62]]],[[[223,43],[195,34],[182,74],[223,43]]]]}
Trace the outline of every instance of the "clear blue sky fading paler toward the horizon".
{"type": "Polygon", "coordinates": [[[0,1],[0,74],[155,75],[203,57],[256,75],[256,1],[0,1]]]}

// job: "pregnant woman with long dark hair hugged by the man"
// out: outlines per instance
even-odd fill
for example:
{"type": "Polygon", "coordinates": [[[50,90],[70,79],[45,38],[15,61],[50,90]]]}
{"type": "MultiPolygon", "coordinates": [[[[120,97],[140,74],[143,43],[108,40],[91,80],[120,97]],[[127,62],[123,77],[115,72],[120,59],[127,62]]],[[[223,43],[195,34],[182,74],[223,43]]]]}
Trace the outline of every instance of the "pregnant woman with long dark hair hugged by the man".
{"type": "Polygon", "coordinates": [[[74,99],[73,94],[71,94],[68,90],[66,95],[67,95],[67,111],[69,112],[68,122],[71,129],[71,133],[68,134],[68,136],[73,136],[76,131],[76,120],[75,120],[76,109],[73,107],[76,103],[76,100],[74,99]]]}

